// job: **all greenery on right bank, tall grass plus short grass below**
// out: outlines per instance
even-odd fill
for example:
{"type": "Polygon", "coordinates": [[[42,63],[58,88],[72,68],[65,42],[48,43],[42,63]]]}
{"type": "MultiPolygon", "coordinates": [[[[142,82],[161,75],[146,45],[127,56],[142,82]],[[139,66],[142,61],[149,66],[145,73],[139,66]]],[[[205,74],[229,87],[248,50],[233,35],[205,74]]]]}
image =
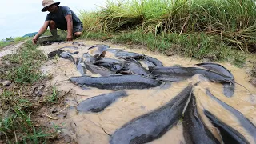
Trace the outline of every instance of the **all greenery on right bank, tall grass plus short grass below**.
{"type": "Polygon", "coordinates": [[[107,1],[81,11],[84,38],[142,44],[150,50],[241,65],[256,51],[255,0],[107,1]]]}

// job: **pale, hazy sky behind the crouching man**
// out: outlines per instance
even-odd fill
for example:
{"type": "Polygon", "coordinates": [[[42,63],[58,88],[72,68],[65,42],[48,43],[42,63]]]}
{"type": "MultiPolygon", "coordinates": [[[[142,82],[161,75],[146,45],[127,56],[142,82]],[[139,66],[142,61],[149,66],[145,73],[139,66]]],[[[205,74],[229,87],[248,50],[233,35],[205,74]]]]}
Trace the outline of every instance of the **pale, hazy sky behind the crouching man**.
{"type": "MultiPolygon", "coordinates": [[[[79,15],[79,10],[94,11],[98,6],[106,6],[106,0],[54,0],[60,6],[69,6],[79,15]]],[[[0,39],[22,37],[27,33],[38,32],[45,21],[41,12],[42,0],[2,0],[0,9],[0,39]]]]}

